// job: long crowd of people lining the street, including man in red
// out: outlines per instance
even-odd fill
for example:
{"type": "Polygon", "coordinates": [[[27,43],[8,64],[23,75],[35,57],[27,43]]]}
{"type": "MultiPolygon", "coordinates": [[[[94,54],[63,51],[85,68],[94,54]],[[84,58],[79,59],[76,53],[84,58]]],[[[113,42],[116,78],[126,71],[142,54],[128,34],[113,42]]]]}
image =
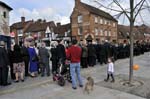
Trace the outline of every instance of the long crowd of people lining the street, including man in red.
{"type": "MultiPolygon", "coordinates": [[[[150,51],[150,44],[145,41],[134,43],[134,55],[141,55],[150,51]]],[[[124,59],[130,56],[130,44],[125,40],[123,43],[109,42],[108,40],[93,43],[91,41],[73,40],[64,45],[63,40],[51,43],[48,50],[44,42],[37,47],[34,42],[24,42],[23,46],[12,44],[11,49],[5,49],[5,43],[0,41],[0,85],[7,86],[8,72],[10,68],[11,79],[15,82],[24,82],[25,77],[37,77],[39,74],[49,77],[50,74],[57,73],[58,64],[65,66],[66,60],[70,60],[70,74],[72,78],[72,88],[77,88],[75,75],[79,80],[79,86],[83,87],[80,75],[80,67],[94,67],[97,63],[108,63],[108,59],[113,57],[124,59]],[[51,66],[50,66],[51,61],[51,66]],[[52,67],[52,69],[50,69],[52,67]],[[76,73],[76,74],[75,74],[76,73]]],[[[113,75],[110,74],[110,76],[113,75]]],[[[109,75],[107,79],[109,78],[109,75]]],[[[107,80],[106,79],[106,80],[107,80]]]]}

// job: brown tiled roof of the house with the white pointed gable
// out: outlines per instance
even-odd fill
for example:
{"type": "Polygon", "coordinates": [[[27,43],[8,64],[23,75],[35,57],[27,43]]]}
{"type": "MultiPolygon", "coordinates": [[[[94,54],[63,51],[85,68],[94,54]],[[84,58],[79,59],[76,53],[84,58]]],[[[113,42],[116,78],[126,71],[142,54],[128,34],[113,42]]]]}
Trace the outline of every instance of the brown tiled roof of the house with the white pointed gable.
{"type": "Polygon", "coordinates": [[[48,26],[49,28],[53,28],[53,29],[56,27],[53,21],[50,22],[36,21],[30,23],[30,25],[28,26],[28,28],[24,30],[24,32],[28,33],[28,32],[46,31],[48,26]]]}

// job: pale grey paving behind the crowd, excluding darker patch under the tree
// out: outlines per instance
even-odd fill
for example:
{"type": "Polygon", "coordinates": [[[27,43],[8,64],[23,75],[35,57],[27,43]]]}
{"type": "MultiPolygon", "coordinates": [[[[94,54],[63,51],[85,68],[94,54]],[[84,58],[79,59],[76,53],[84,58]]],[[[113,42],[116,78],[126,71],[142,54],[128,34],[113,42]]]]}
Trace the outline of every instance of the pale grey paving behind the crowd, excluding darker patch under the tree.
{"type": "MultiPolygon", "coordinates": [[[[148,53],[134,58],[134,63],[140,65],[140,70],[134,72],[135,76],[150,79],[150,55],[148,53]]],[[[115,74],[129,73],[129,59],[118,60],[115,63],[115,74]]],[[[94,68],[83,69],[82,76],[92,76],[95,83],[106,77],[106,65],[96,65],[94,68]]],[[[90,94],[83,94],[83,89],[72,90],[71,84],[60,87],[52,81],[52,77],[28,78],[25,82],[13,83],[8,87],[0,87],[0,99],[144,99],[113,89],[95,85],[95,90],[90,94]]]]}

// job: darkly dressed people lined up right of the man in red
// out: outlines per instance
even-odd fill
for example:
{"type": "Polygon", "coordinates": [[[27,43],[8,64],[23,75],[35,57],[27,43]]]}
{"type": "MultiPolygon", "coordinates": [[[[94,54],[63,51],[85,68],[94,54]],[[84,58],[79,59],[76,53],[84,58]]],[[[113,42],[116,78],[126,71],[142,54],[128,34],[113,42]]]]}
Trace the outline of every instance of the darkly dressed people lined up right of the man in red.
{"type": "MultiPolygon", "coordinates": [[[[114,60],[128,58],[130,56],[130,44],[124,40],[123,43],[110,43],[108,40],[92,44],[92,41],[80,43],[82,48],[81,66],[87,68],[93,67],[97,60],[100,65],[107,64],[108,58],[113,57],[114,60]]],[[[145,41],[136,41],[134,43],[134,56],[144,54],[150,51],[150,43],[145,41]]]]}

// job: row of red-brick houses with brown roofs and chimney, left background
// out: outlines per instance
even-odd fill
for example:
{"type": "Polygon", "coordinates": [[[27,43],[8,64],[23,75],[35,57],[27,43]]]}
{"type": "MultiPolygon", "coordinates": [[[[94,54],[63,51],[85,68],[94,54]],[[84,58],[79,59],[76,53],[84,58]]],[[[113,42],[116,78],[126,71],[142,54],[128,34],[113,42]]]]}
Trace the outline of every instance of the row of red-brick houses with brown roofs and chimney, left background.
{"type": "MultiPolygon", "coordinates": [[[[39,42],[42,38],[49,38],[45,34],[47,28],[53,32],[56,25],[53,21],[46,22],[46,20],[38,19],[37,21],[26,21],[25,17],[21,17],[21,22],[14,23],[10,26],[11,32],[15,34],[15,43],[22,45],[24,39],[28,36],[32,36],[39,42]]],[[[50,34],[50,33],[49,33],[50,34]]]]}

